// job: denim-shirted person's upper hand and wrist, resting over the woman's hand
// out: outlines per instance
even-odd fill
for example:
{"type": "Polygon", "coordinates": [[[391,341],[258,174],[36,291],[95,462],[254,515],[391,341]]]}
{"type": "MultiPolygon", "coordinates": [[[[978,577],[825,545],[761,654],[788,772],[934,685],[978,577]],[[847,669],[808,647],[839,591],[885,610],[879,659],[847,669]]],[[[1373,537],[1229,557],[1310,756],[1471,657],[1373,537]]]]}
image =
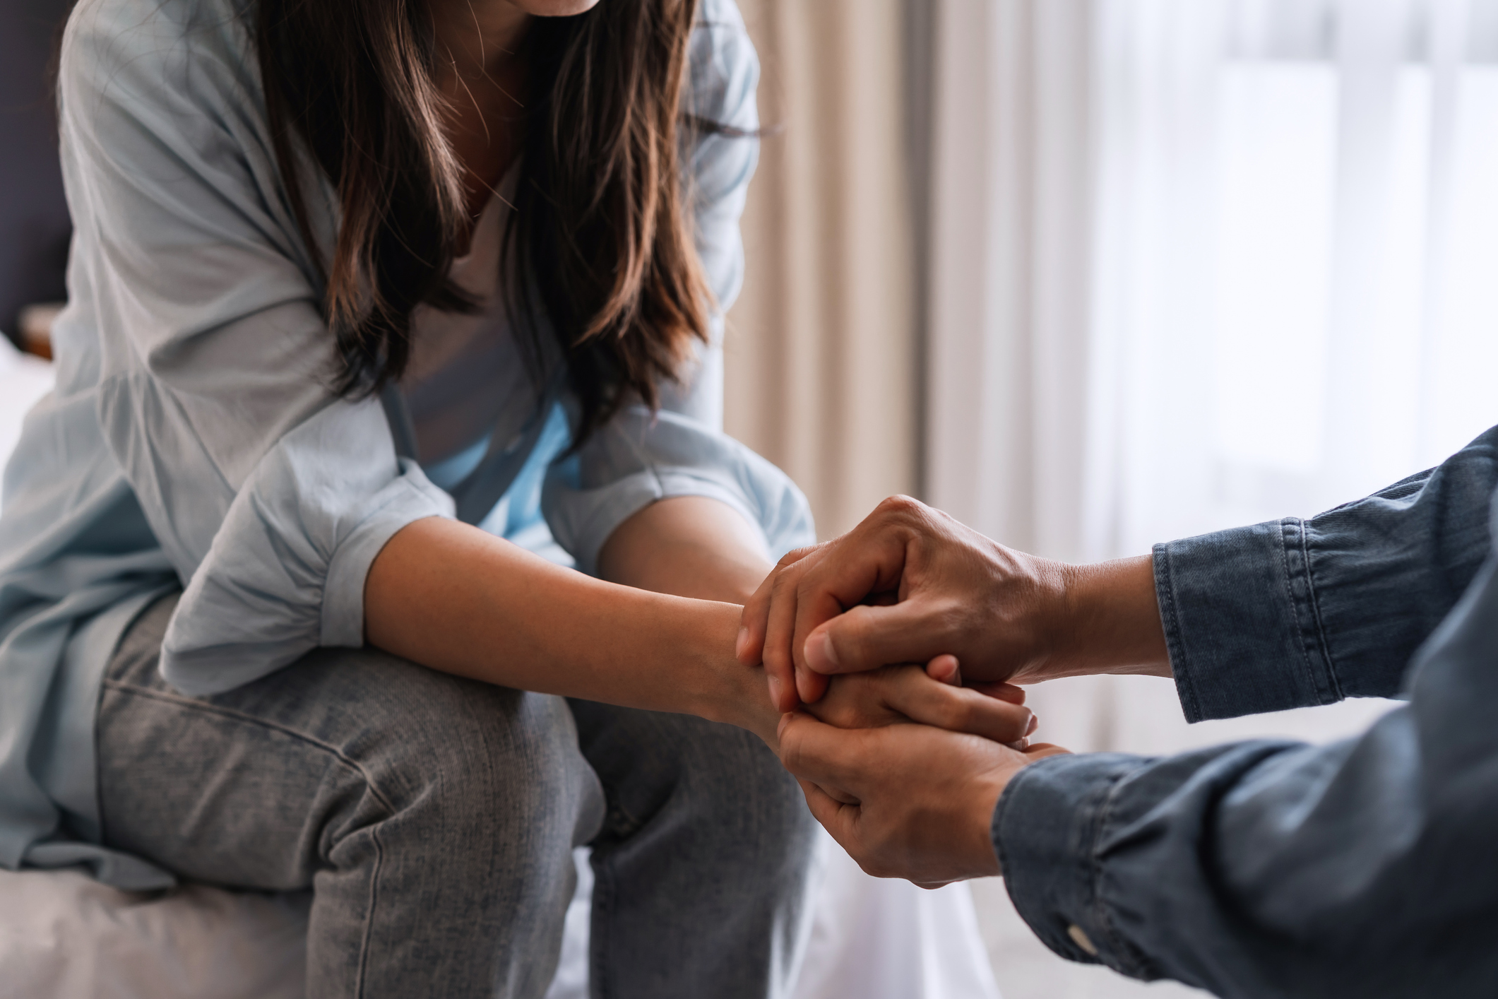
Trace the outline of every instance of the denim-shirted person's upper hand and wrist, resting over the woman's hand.
{"type": "Polygon", "coordinates": [[[828,674],[954,655],[969,680],[1170,675],[1147,556],[1073,566],[984,538],[909,497],[791,553],[745,605],[736,653],[782,711],[828,674]]]}

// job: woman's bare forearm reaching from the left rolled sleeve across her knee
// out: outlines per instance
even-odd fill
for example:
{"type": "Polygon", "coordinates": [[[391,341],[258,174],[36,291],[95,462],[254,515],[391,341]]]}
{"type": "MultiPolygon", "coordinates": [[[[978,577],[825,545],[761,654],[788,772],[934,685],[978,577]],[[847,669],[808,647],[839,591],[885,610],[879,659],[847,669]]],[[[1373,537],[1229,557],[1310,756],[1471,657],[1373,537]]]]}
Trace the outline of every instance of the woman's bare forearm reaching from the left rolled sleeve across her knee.
{"type": "Polygon", "coordinates": [[[476,527],[407,524],[370,566],[370,644],[502,686],[679,711],[774,738],[758,671],[734,659],[740,608],[556,566],[476,527]]]}

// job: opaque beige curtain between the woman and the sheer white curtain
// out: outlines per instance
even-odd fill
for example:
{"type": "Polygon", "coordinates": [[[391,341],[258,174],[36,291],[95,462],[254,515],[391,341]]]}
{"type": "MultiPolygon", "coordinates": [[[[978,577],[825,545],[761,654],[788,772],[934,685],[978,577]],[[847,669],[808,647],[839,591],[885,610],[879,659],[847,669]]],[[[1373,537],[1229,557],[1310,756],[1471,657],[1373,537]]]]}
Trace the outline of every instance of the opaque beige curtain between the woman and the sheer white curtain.
{"type": "Polygon", "coordinates": [[[917,487],[915,258],[903,0],[740,0],[765,138],[730,313],[728,433],[830,538],[917,487]]]}

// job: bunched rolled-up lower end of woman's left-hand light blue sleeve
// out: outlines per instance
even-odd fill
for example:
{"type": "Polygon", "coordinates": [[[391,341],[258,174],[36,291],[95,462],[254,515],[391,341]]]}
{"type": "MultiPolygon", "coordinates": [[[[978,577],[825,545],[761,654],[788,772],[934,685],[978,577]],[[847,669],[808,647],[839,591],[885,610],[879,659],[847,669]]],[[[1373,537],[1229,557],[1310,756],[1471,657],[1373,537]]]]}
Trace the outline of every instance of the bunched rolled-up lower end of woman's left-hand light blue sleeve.
{"type": "Polygon", "coordinates": [[[406,524],[451,514],[451,497],[395,458],[377,404],[321,410],[237,491],[168,628],[165,678],[214,693],[318,646],[363,646],[374,556],[406,524]]]}

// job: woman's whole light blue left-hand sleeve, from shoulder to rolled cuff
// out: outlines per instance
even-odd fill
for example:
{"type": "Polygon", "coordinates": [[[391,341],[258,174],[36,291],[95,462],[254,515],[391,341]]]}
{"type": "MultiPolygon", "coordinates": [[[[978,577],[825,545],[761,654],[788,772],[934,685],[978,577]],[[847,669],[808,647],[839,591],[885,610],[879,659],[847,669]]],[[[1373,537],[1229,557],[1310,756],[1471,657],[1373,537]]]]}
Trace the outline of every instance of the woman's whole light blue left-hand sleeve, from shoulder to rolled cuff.
{"type": "Polygon", "coordinates": [[[331,388],[247,45],[189,3],[85,3],[60,72],[73,292],[100,341],[79,362],[100,365],[109,449],[184,584],[162,671],[189,693],[363,644],[380,547],[452,512],[382,407],[331,388]]]}

